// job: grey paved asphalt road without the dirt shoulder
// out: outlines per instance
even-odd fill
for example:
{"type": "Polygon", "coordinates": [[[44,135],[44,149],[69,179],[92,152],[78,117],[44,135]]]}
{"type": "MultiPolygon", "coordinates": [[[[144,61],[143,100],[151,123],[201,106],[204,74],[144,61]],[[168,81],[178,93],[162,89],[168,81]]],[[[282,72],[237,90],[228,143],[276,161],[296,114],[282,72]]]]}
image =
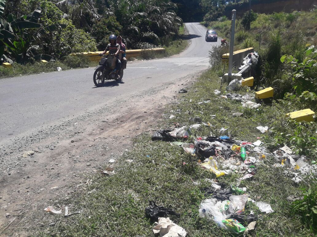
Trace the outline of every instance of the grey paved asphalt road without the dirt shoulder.
{"type": "MultiPolygon", "coordinates": [[[[96,88],[94,69],[77,69],[0,80],[0,144],[52,122],[77,116],[118,96],[142,93],[207,69],[208,52],[218,42],[206,42],[206,28],[186,23],[191,44],[170,58],[128,62],[122,82],[96,88]]],[[[127,102],[128,103],[128,102],[127,102]]]]}

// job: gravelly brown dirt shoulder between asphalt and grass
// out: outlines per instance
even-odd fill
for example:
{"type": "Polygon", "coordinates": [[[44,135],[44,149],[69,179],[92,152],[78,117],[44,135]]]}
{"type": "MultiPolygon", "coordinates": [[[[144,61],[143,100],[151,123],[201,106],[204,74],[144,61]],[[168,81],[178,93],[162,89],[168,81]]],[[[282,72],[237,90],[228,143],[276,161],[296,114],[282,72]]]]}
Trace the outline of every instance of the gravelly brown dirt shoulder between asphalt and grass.
{"type": "Polygon", "coordinates": [[[156,129],[164,106],[173,103],[178,90],[192,81],[187,76],[164,88],[115,98],[107,106],[3,144],[0,231],[15,220],[2,236],[25,236],[21,230],[41,220],[36,212],[44,214],[44,208],[57,198],[68,200],[77,185],[86,183],[83,177],[100,172],[110,159],[118,160],[131,148],[134,137],[156,129]]]}

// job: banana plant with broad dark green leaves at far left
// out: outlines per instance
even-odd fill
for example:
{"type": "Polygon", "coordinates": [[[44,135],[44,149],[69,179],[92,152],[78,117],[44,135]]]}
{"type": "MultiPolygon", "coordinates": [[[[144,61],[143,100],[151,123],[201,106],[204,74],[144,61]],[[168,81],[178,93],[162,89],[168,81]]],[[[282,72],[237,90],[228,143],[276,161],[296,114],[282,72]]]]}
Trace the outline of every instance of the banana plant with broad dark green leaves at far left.
{"type": "Polygon", "coordinates": [[[38,23],[41,16],[41,7],[37,7],[31,14],[17,18],[9,14],[3,18],[2,6],[5,0],[0,0],[0,56],[3,61],[16,61],[25,63],[30,58],[51,60],[52,57],[45,54],[36,54],[39,48],[38,42],[47,33],[66,27],[62,24],[54,24],[42,27],[38,23]],[[2,10],[2,11],[1,11],[2,10]]]}

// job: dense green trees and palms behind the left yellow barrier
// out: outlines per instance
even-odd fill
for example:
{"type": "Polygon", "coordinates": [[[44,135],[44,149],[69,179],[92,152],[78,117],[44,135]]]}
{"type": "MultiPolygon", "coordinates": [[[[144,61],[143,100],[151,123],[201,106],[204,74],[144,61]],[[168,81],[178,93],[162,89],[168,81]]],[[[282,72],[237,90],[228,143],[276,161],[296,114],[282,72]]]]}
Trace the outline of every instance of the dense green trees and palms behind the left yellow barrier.
{"type": "MultiPolygon", "coordinates": [[[[168,0],[0,0],[0,6],[2,21],[8,24],[16,18],[30,21],[24,14],[34,9],[37,14],[36,22],[11,32],[15,35],[9,40],[23,39],[20,46],[13,41],[2,44],[2,60],[10,62],[28,61],[36,54],[64,58],[73,52],[104,50],[112,33],[122,35],[131,49],[158,47],[168,44],[183,23],[177,5],[168,0]]],[[[5,26],[2,23],[1,29],[5,26]]]]}

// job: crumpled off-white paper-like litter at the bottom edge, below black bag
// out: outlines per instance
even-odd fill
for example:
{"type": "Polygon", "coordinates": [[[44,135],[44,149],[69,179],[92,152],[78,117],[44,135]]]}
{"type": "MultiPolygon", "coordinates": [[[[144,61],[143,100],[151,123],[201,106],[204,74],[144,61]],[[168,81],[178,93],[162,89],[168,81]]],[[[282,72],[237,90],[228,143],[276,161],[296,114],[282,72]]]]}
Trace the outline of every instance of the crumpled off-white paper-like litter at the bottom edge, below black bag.
{"type": "Polygon", "coordinates": [[[155,222],[153,227],[153,233],[155,236],[160,237],[185,237],[187,232],[174,222],[170,218],[160,217],[159,222],[155,222]]]}

